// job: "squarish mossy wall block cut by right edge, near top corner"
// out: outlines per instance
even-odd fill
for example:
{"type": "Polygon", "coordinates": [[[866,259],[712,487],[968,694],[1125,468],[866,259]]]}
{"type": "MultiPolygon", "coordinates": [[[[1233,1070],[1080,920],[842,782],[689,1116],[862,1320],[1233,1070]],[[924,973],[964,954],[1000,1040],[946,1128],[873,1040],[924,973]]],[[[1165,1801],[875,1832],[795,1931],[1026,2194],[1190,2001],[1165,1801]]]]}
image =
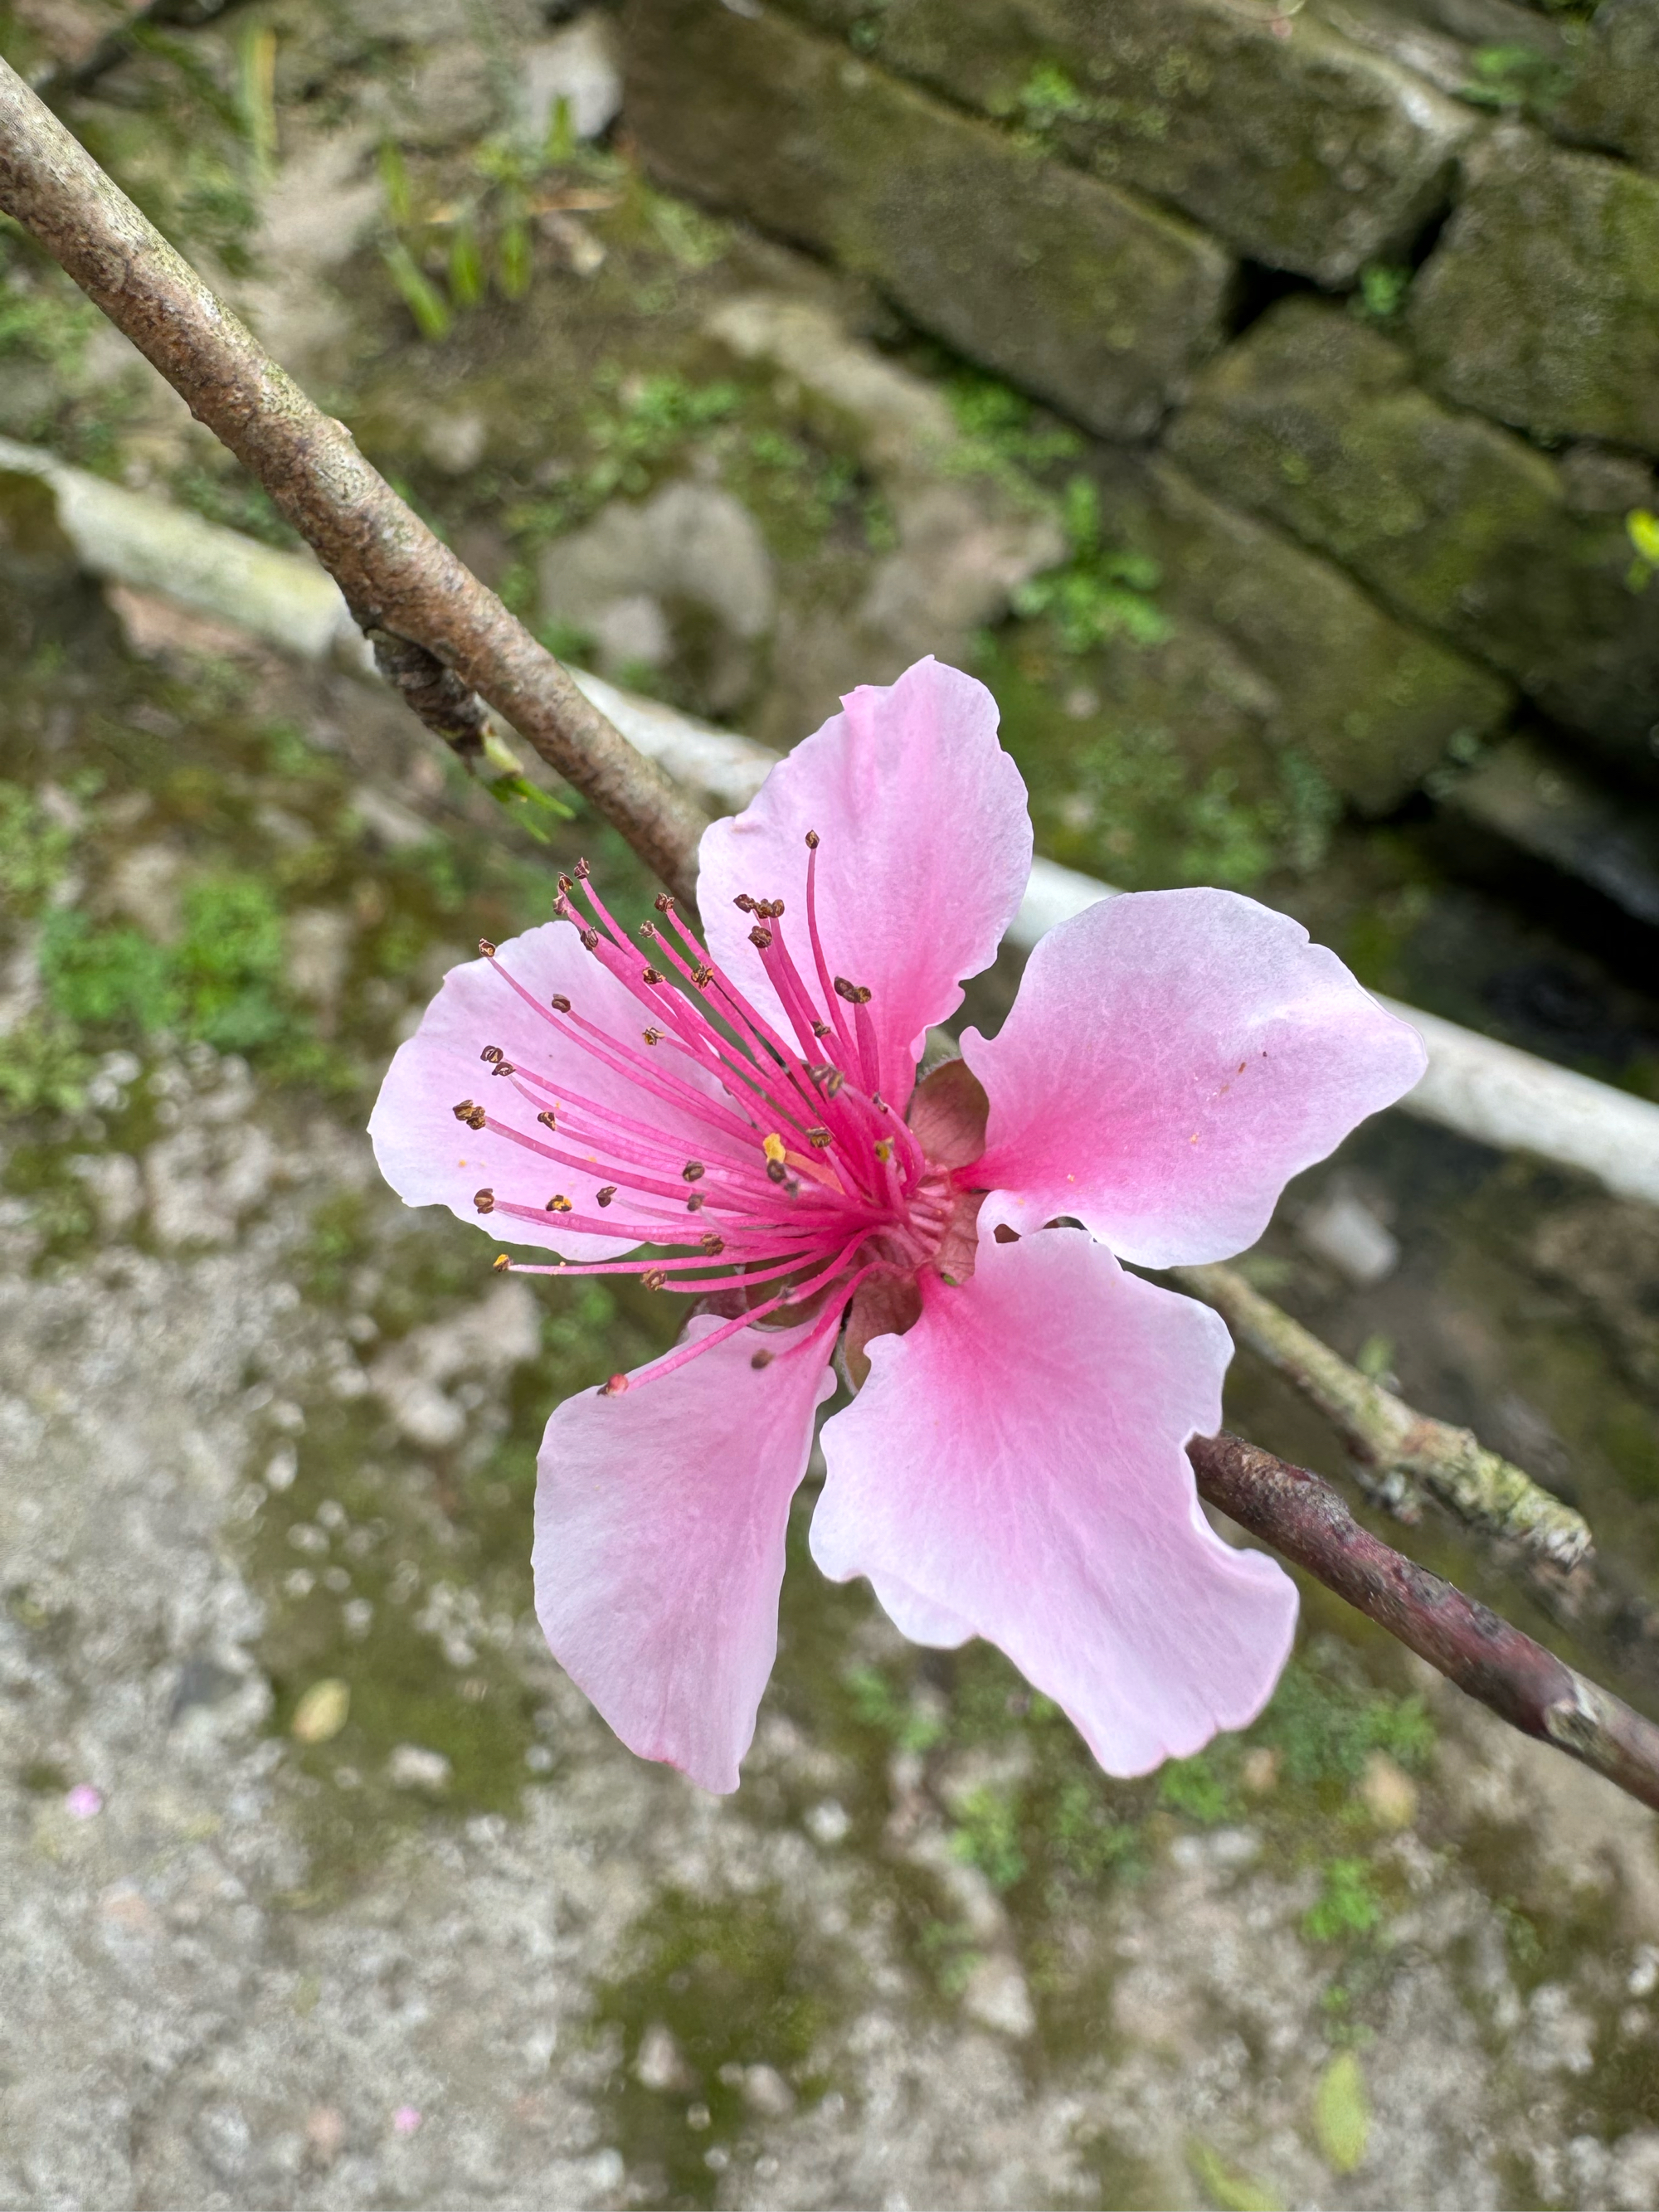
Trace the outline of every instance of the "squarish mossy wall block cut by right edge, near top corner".
{"type": "Polygon", "coordinates": [[[1659,181],[1495,131],[1409,319],[1444,398],[1537,438],[1659,453],[1659,181]]]}

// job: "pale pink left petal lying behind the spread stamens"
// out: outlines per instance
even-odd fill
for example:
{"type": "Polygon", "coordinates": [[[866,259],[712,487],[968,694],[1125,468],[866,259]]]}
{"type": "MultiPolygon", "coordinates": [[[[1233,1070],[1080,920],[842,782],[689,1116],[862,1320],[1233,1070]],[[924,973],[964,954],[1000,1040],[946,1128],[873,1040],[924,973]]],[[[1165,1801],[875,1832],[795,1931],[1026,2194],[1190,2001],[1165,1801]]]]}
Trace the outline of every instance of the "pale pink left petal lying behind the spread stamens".
{"type": "MultiPolygon", "coordinates": [[[[630,1051],[644,1051],[639,1042],[648,1020],[644,1006],[582,949],[568,922],[544,922],[522,938],[511,938],[498,949],[498,960],[538,1006],[546,1006],[555,993],[564,995],[575,1013],[586,1015],[606,1035],[622,1040],[630,1051]]],[[[462,1099],[473,1099],[491,1119],[509,1124],[535,1144],[586,1159],[597,1157],[588,1144],[573,1144],[535,1121],[538,1108],[560,1099],[560,1084],[597,1106],[611,1106],[633,1121],[664,1130],[688,1157],[708,1157],[708,1133],[681,1106],[650,1097],[630,1077],[580,1051],[538,1013],[538,1006],[526,1006],[487,960],[449,969],[442,989],[420,1018],[420,1029],[398,1046],[380,1084],[380,1097],[369,1115],[374,1157],[380,1175],[407,1206],[447,1206],[460,1221],[476,1223],[500,1243],[542,1245],[564,1259],[613,1259],[633,1250],[639,1239],[560,1230],[557,1212],[544,1214],[542,1221],[520,1221],[500,1212],[484,1217],[476,1206],[478,1190],[493,1190],[498,1203],[533,1208],[546,1208],[549,1197],[560,1192],[571,1199],[573,1212],[593,1214],[595,1192],[613,1181],[604,1166],[588,1172],[551,1161],[495,1130],[467,1128],[453,1108],[462,1099]],[[533,1071],[553,1088],[526,1084],[526,1097],[511,1077],[491,1075],[491,1064],[480,1057],[489,1044],[498,1044],[515,1068],[533,1071]]],[[[719,1086],[681,1053],[657,1046],[657,1057],[677,1079],[721,1097],[719,1086]]]]}

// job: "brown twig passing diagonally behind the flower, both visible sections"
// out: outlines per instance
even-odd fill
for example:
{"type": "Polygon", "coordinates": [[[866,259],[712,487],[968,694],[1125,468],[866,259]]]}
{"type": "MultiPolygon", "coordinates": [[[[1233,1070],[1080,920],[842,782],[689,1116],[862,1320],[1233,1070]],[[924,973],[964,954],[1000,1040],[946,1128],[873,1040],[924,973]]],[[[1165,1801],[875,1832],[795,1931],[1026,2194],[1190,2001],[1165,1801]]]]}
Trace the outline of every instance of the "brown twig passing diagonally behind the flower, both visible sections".
{"type": "MultiPolygon", "coordinates": [[[[697,810],[392,493],[349,431],[261,352],[4,62],[0,208],[46,246],[259,478],[445,743],[469,748],[478,734],[471,692],[482,695],[670,889],[692,894],[703,827],[697,810]]],[[[1243,1528],[1511,1725],[1659,1807],[1659,1728],[1389,1551],[1318,1475],[1228,1436],[1197,1440],[1190,1455],[1203,1495],[1243,1528]]]]}

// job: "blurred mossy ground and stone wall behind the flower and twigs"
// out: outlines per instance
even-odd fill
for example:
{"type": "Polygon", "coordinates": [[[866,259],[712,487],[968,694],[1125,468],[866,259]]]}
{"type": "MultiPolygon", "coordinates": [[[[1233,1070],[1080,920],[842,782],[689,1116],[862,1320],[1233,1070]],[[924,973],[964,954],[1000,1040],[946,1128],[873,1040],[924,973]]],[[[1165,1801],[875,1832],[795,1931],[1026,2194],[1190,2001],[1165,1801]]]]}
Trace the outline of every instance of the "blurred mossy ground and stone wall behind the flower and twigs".
{"type": "MultiPolygon", "coordinates": [[[[776,748],[938,653],[1040,852],[1659,1097],[1655,0],[0,53],[557,653],[776,748]]],[[[670,1301],[495,1281],[363,1124],[560,865],[653,885],[294,551],[0,223],[0,2201],[1659,2205],[1655,1818],[1318,1590],[1256,1728],[1113,1783],[825,1586],[810,1480],[741,1794],[611,1739],[535,1447],[670,1301]]],[[[1245,1272],[1659,1597],[1650,1208],[1391,1113],[1245,1272]]],[[[1230,1420],[1345,1475],[1245,1356],[1230,1420]]],[[[1659,1712],[1628,1621],[1402,1542],[1659,1712]]]]}

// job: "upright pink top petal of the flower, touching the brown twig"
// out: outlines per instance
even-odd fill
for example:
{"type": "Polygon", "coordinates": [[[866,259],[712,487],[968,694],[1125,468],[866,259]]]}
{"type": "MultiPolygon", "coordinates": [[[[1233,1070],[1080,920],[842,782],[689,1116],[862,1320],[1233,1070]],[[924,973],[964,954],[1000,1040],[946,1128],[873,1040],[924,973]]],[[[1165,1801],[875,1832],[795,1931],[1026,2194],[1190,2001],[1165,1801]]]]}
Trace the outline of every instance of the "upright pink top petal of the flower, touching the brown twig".
{"type": "Polygon", "coordinates": [[[1031,874],[1020,770],[998,743],[984,684],[936,659],[894,686],[863,684],[772,770],[734,821],[703,832],[699,909],[721,967],[783,1033],[783,1009],[732,900],[783,898],[783,933],[816,980],[807,847],[818,845],[818,931],[832,975],[872,991],[880,1088],[909,1097],[922,1035],[995,960],[1031,874]]]}

